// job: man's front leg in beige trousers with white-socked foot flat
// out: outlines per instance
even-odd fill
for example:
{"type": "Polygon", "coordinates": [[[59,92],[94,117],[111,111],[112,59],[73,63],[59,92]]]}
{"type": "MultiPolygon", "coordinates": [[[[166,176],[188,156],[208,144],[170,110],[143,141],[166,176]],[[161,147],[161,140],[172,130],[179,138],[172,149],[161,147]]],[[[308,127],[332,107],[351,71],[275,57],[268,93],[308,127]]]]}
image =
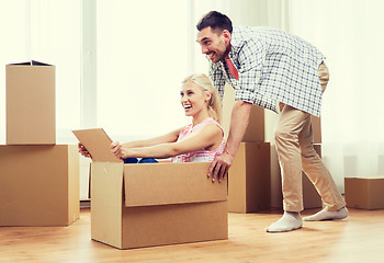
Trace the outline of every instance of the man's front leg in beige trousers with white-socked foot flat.
{"type": "Polygon", "coordinates": [[[267,228],[269,232],[291,231],[303,225],[300,216],[303,210],[303,190],[298,135],[309,122],[308,113],[284,105],[276,123],[274,141],[281,167],[284,215],[267,228]]]}

